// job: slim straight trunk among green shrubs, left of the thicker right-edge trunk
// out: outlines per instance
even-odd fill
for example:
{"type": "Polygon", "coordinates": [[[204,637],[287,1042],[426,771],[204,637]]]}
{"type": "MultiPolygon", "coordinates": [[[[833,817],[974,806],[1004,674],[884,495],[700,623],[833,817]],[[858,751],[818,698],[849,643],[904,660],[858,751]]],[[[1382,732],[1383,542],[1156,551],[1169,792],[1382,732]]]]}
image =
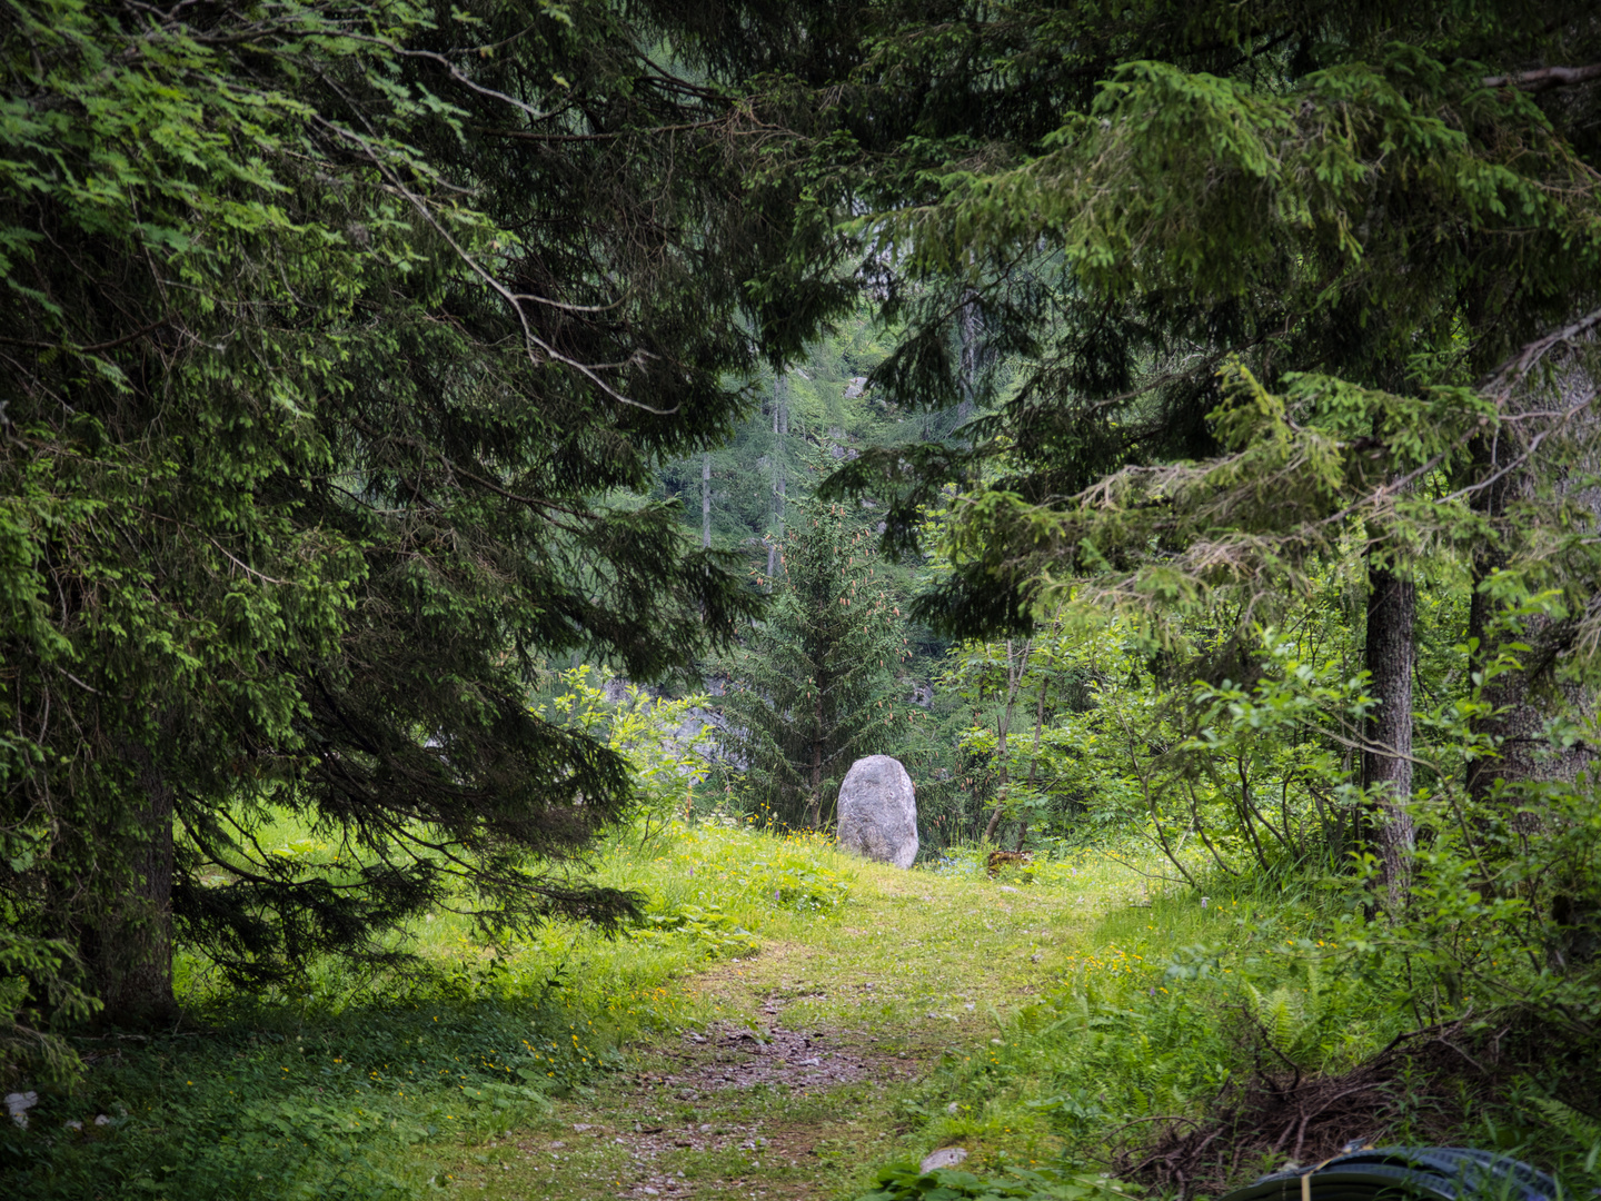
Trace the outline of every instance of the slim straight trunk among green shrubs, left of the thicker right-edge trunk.
{"type": "Polygon", "coordinates": [[[1374,854],[1383,908],[1406,905],[1412,870],[1412,623],[1417,584],[1388,567],[1367,568],[1367,673],[1378,706],[1367,716],[1362,785],[1369,789],[1374,854]]]}

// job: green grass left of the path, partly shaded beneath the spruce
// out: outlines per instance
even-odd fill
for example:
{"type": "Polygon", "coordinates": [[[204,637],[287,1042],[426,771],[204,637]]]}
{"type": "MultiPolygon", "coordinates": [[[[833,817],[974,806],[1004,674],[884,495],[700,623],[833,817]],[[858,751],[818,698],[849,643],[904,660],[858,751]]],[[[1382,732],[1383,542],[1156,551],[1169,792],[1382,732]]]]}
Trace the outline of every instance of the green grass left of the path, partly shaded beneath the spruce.
{"type": "MultiPolygon", "coordinates": [[[[287,821],[263,844],[331,857],[287,821]]],[[[706,1020],[716,1006],[685,977],[754,954],[754,929],[792,937],[833,921],[853,882],[826,847],[720,826],[628,836],[596,868],[645,894],[637,930],[552,922],[500,946],[442,910],[395,937],[413,970],[323,962],[256,996],[181,958],[191,1020],[83,1039],[86,1079],[46,1091],[27,1131],[0,1129],[0,1166],[32,1198],[72,1201],[415,1196],[448,1175],[434,1163],[447,1148],[552,1113],[631,1039],[706,1020]]]]}

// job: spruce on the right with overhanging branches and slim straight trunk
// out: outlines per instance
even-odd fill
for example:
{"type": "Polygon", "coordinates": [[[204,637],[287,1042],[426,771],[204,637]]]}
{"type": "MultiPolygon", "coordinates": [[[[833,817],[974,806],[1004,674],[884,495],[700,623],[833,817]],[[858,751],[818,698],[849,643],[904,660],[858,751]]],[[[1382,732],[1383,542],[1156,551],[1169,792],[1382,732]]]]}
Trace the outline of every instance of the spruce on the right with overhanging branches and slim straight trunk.
{"type": "MultiPolygon", "coordinates": [[[[876,34],[839,120],[874,151],[877,211],[853,229],[909,323],[876,383],[959,404],[949,330],[975,309],[996,370],[970,452],[869,453],[833,495],[895,495],[890,543],[913,549],[922,506],[964,490],[954,570],[917,612],[965,636],[1026,634],[1069,592],[1170,636],[1218,589],[1244,631],[1305,588],[1330,535],[1361,540],[1382,700],[1366,783],[1404,894],[1420,556],[1471,552],[1481,584],[1518,562],[1595,610],[1596,565],[1550,552],[1593,522],[1558,487],[1593,448],[1553,455],[1577,410],[1542,375],[1583,375],[1601,304],[1591,6],[951,3],[858,21],[876,34]],[[1236,405],[1278,415],[1246,432],[1236,405]],[[1535,447],[1543,487],[1511,493],[1545,503],[1500,506],[1535,447]]],[[[1543,660],[1595,628],[1542,634],[1543,660]]],[[[1524,717],[1508,729],[1540,725],[1524,717]]]]}

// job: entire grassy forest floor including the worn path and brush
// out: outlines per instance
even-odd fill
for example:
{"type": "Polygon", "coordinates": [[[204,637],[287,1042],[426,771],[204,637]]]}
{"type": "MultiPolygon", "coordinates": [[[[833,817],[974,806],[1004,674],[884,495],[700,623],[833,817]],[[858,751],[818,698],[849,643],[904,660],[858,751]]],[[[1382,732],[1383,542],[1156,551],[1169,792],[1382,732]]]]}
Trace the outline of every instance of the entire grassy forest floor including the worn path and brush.
{"type": "Polygon", "coordinates": [[[647,897],[613,940],[498,946],[435,913],[418,970],[248,1004],[189,966],[191,1020],[82,1039],[85,1079],[5,1131],[6,1175],[32,1198],[900,1198],[961,1148],[953,1196],[1206,1196],[1361,1139],[1601,1183],[1601,1131],[1563,1100],[1583,1065],[1398,1006],[1332,894],[1202,898],[1132,844],[895,871],[735,818],[596,866],[647,897]]]}

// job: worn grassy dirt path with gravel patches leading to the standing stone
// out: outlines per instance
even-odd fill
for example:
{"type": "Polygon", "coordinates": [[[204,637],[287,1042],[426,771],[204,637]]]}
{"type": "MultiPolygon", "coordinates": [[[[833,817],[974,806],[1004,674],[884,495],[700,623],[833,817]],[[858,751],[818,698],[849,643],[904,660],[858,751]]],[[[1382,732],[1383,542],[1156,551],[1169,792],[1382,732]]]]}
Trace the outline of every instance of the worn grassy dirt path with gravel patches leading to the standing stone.
{"type": "Polygon", "coordinates": [[[943,1108],[941,1058],[988,1044],[1103,903],[869,870],[805,942],[685,980],[701,1026],[629,1047],[626,1071],[447,1180],[552,1201],[853,1196],[876,1164],[932,1150],[901,1137],[906,1103],[943,1108]]]}

